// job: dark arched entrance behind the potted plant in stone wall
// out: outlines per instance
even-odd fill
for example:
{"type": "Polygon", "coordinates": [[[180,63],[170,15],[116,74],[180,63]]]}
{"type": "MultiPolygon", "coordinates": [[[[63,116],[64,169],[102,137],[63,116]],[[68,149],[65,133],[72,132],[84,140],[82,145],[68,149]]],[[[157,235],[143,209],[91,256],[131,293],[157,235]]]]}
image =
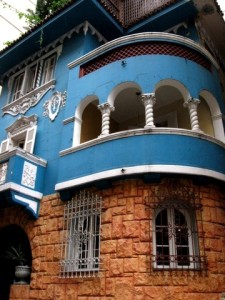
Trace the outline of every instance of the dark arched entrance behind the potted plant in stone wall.
{"type": "MultiPolygon", "coordinates": [[[[8,300],[10,285],[16,283],[15,266],[17,262],[8,258],[7,252],[14,247],[22,249],[26,264],[31,267],[32,255],[28,237],[18,225],[8,225],[0,230],[0,299],[8,300]]],[[[27,283],[30,278],[27,278],[27,283]]]]}

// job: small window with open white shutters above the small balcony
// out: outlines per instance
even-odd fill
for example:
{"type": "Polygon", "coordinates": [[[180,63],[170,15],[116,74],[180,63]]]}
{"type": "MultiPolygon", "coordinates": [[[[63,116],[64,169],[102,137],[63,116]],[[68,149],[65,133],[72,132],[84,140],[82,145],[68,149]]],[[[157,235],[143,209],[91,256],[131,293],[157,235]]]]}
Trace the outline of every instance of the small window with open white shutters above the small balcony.
{"type": "Polygon", "coordinates": [[[8,138],[1,142],[0,154],[14,147],[24,149],[29,153],[33,153],[36,131],[37,117],[20,117],[6,131],[8,138]]]}

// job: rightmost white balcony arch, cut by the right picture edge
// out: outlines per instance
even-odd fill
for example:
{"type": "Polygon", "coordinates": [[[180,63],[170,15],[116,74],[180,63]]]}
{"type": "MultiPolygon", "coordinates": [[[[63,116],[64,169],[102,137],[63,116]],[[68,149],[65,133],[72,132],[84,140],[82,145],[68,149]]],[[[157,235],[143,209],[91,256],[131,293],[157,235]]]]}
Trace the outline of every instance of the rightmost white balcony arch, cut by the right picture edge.
{"type": "Polygon", "coordinates": [[[221,113],[219,104],[217,103],[216,98],[207,90],[202,90],[199,94],[200,100],[204,100],[211,112],[211,119],[213,123],[213,129],[215,137],[218,140],[224,142],[224,127],[223,127],[223,115],[221,113]]]}

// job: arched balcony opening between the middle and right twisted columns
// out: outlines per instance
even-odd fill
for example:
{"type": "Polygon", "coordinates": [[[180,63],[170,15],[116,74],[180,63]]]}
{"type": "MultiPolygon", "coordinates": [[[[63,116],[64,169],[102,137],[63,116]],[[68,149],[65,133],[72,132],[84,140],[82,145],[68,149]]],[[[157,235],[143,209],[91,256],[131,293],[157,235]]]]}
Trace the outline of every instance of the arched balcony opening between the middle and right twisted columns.
{"type": "Polygon", "coordinates": [[[184,86],[175,80],[163,80],[155,90],[154,122],[156,127],[191,129],[188,109],[184,101],[188,99],[184,86]]]}

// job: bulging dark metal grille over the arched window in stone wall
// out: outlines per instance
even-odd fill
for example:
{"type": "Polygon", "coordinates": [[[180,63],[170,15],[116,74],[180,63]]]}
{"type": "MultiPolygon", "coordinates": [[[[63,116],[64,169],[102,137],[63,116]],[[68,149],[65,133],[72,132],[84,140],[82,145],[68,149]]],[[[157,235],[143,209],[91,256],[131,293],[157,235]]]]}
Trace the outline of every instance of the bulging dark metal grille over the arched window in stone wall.
{"type": "Polygon", "coordinates": [[[152,267],[157,270],[205,270],[202,205],[198,187],[168,180],[151,188],[152,267]]]}

